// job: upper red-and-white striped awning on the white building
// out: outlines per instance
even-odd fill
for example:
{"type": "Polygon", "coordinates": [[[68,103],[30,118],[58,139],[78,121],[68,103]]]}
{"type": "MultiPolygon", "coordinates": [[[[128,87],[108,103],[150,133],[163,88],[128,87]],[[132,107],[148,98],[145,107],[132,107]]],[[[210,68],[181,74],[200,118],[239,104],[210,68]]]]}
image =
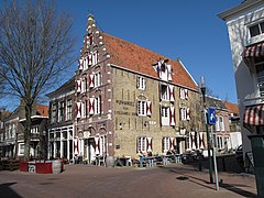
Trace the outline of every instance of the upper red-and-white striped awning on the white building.
{"type": "Polygon", "coordinates": [[[243,53],[244,63],[250,67],[254,65],[254,58],[264,56],[264,42],[245,47],[243,53]]]}

